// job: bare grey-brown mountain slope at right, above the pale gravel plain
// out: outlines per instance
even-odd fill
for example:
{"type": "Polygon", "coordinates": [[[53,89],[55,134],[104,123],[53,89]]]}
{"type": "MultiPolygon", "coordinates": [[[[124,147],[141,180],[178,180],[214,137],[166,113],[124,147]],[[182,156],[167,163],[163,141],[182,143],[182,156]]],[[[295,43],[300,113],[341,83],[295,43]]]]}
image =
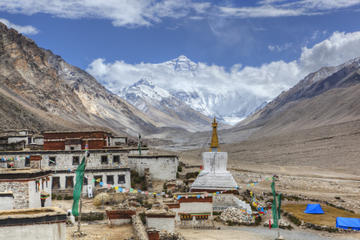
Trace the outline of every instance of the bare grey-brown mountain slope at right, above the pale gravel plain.
{"type": "Polygon", "coordinates": [[[258,128],[257,136],[360,119],[360,58],[309,74],[234,130],[258,128]]]}

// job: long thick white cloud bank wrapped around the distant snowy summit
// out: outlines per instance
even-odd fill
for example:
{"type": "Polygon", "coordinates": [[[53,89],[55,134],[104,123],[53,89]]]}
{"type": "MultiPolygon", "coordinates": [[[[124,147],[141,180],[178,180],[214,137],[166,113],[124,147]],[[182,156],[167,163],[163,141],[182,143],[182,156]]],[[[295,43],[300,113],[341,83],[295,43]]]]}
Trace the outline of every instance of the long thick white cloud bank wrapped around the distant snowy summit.
{"type": "Polygon", "coordinates": [[[323,66],[334,66],[360,56],[360,32],[334,32],[328,39],[304,47],[299,59],[275,61],[260,67],[234,65],[229,71],[217,65],[190,64],[192,71],[174,71],[173,62],[159,64],[108,63],[94,60],[87,71],[113,92],[118,92],[141,78],[173,90],[197,90],[207,93],[240,92],[271,100],[310,72],[323,66]]]}

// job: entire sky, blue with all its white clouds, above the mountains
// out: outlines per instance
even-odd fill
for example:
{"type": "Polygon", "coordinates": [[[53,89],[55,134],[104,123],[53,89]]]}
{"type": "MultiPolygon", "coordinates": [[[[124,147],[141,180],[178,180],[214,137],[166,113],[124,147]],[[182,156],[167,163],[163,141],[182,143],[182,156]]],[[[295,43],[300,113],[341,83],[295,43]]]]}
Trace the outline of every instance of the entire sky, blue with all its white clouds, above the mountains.
{"type": "MultiPolygon", "coordinates": [[[[205,64],[204,85],[230,79],[269,100],[311,71],[360,56],[360,0],[2,0],[0,13],[109,88],[185,55],[205,64]]],[[[156,74],[172,76],[164,71],[156,74]]]]}

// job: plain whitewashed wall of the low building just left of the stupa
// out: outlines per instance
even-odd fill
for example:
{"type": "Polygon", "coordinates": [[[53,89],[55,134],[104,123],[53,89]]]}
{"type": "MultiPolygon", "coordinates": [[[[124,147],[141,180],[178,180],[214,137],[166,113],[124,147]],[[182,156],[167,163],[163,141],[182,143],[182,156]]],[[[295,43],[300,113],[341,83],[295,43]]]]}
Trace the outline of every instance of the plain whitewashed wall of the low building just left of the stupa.
{"type": "Polygon", "coordinates": [[[128,157],[128,164],[132,170],[142,176],[148,168],[152,179],[172,180],[176,179],[179,159],[177,156],[170,155],[133,155],[128,157]]]}

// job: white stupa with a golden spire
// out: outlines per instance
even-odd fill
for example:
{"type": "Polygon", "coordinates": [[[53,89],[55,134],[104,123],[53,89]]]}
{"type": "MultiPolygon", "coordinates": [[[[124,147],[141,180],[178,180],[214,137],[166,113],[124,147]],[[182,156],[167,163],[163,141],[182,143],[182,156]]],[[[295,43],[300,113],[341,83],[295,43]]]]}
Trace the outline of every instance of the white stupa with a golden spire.
{"type": "Polygon", "coordinates": [[[215,118],[212,127],[210,152],[202,153],[203,170],[191,185],[192,192],[233,190],[238,187],[231,173],[226,170],[227,152],[218,152],[219,140],[215,118]]]}

